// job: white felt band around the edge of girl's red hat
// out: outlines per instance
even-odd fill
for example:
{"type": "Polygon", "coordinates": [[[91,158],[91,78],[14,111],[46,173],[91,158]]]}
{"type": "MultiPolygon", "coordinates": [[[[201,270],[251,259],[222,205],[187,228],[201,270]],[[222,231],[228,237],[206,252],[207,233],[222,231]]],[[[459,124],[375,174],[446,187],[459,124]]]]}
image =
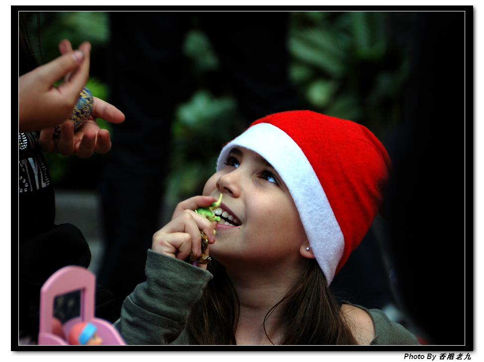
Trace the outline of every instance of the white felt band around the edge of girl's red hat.
{"type": "Polygon", "coordinates": [[[223,147],[217,171],[225,167],[230,150],[236,146],[257,152],[282,178],[299,211],[313,254],[330,285],[343,255],[345,239],[323,187],[301,148],[280,128],[270,123],[255,124],[223,147]]]}

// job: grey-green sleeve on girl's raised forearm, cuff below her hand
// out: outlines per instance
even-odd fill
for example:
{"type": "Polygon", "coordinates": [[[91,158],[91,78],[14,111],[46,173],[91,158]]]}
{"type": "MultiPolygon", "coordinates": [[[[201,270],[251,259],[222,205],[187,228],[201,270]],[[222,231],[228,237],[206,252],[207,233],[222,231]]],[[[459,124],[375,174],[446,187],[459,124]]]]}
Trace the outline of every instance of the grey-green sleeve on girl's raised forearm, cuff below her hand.
{"type": "MultiPolygon", "coordinates": [[[[114,326],[130,345],[172,343],[185,330],[190,310],[212,275],[151,249],[145,273],[146,281],[126,298],[114,326]]],[[[182,339],[188,343],[186,337],[182,339]]]]}

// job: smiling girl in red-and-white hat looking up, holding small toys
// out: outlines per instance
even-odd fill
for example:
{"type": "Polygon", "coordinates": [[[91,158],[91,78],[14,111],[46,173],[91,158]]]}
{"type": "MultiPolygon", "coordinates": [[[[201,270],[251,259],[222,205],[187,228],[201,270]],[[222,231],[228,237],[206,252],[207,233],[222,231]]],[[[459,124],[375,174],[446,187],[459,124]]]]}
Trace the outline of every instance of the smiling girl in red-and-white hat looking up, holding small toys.
{"type": "Polygon", "coordinates": [[[204,196],[154,234],[147,281],[115,325],[128,344],[418,344],[328,288],[378,212],[390,167],[355,122],[311,111],[255,121],[223,147],[204,196]],[[220,222],[194,211],[220,194],[220,222]],[[208,266],[185,261],[201,254],[200,230],[208,266]]]}

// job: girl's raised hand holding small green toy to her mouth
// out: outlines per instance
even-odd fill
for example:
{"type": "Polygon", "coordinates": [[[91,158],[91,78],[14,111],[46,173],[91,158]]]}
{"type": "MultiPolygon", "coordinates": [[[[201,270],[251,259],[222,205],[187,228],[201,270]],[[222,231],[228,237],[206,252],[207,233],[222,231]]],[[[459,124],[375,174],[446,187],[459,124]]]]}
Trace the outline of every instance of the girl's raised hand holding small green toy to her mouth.
{"type": "MultiPolygon", "coordinates": [[[[153,235],[151,250],[180,260],[186,260],[190,250],[197,256],[202,254],[202,230],[208,237],[208,243],[215,242],[213,230],[216,222],[210,222],[194,210],[209,206],[216,200],[210,196],[195,196],[180,202],[175,208],[171,221],[153,235]]],[[[208,248],[205,251],[208,255],[208,248]]],[[[198,265],[206,269],[207,265],[198,265]]]]}

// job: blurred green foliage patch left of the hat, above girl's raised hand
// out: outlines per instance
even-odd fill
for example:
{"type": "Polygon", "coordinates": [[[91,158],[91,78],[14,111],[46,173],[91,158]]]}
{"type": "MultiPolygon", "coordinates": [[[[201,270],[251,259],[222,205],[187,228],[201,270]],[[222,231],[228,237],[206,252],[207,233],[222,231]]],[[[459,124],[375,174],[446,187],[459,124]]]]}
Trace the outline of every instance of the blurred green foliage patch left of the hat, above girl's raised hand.
{"type": "Polygon", "coordinates": [[[234,97],[230,93],[214,95],[204,82],[204,75],[220,69],[207,35],[200,29],[189,31],[183,52],[191,60],[200,88],[175,111],[171,172],[165,192],[165,202],[171,205],[202,193],[215,171],[222,144],[240,134],[245,124],[234,97]]]}

